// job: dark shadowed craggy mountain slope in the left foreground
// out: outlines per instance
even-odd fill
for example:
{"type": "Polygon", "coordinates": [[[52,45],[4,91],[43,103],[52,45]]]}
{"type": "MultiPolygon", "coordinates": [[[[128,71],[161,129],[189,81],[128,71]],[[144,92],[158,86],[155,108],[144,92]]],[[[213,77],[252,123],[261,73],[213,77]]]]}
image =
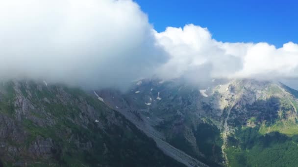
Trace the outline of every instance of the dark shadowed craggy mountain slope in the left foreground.
{"type": "Polygon", "coordinates": [[[0,83],[0,166],[183,167],[93,92],[0,83]]]}

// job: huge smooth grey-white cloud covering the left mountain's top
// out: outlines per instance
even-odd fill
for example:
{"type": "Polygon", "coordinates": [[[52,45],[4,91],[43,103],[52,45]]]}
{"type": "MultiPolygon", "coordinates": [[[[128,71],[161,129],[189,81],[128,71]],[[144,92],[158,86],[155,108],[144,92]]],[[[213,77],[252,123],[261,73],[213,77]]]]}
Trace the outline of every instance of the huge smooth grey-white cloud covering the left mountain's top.
{"type": "Polygon", "coordinates": [[[131,0],[1,0],[0,78],[90,88],[150,77],[167,55],[131,0]]]}

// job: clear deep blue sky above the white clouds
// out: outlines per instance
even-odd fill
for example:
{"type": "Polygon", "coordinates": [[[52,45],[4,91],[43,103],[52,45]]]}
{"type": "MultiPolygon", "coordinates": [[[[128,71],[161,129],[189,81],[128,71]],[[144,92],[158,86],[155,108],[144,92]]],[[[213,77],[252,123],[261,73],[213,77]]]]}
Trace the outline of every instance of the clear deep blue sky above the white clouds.
{"type": "Polygon", "coordinates": [[[223,42],[298,42],[295,0],[135,0],[158,32],[187,23],[223,42]]]}

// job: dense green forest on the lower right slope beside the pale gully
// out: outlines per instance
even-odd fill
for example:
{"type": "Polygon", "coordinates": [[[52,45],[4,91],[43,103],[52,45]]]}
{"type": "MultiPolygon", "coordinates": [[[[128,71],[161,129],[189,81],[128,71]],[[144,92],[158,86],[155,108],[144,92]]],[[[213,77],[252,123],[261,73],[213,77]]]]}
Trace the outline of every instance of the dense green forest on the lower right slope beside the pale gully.
{"type": "Polygon", "coordinates": [[[279,132],[265,135],[258,128],[242,128],[230,137],[225,150],[230,167],[296,167],[298,135],[279,132]]]}

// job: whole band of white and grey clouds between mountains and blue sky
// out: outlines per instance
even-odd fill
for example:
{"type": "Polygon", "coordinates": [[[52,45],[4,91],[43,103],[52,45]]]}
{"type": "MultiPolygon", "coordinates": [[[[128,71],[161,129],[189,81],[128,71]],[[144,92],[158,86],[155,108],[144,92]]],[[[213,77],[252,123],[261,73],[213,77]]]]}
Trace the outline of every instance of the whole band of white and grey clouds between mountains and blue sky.
{"type": "Polygon", "coordinates": [[[132,0],[0,1],[1,79],[125,88],[154,75],[297,78],[298,44],[219,42],[193,24],[157,33],[132,0]]]}

